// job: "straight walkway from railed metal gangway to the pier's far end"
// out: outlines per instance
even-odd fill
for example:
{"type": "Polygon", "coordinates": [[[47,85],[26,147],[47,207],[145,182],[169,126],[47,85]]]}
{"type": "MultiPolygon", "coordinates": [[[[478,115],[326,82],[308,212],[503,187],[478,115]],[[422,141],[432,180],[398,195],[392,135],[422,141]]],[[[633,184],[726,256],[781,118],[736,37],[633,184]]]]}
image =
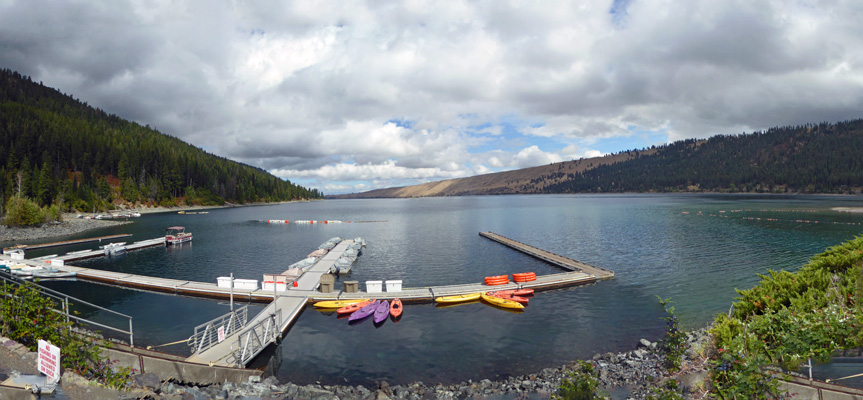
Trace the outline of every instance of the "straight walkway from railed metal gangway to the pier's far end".
{"type": "Polygon", "coordinates": [[[277,293],[275,300],[248,323],[237,325],[245,319],[241,315],[242,311],[237,310],[199,325],[189,338],[194,354],[186,361],[211,366],[245,367],[271,343],[278,343],[282,334],[302,313],[309,297],[317,289],[321,275],[330,271],[353,242],[350,239],[341,241],[297,279],[296,287],[277,293]]]}

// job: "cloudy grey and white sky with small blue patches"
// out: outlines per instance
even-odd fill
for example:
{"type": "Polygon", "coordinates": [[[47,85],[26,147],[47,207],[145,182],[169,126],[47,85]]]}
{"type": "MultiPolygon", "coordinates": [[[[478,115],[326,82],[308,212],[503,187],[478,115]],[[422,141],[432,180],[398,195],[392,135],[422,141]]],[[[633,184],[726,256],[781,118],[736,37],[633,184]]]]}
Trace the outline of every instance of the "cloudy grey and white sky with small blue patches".
{"type": "Polygon", "coordinates": [[[863,117],[863,2],[0,0],[0,67],[326,194],[863,117]]]}

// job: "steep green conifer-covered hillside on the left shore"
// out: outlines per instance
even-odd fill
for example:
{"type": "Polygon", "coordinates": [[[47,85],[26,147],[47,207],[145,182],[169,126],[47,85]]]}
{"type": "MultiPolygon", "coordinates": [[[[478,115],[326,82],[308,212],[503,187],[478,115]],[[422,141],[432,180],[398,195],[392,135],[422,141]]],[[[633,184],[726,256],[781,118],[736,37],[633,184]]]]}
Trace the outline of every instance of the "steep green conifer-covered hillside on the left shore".
{"type": "Polygon", "coordinates": [[[320,198],[266,171],[0,70],[0,197],[64,211],[320,198]]]}

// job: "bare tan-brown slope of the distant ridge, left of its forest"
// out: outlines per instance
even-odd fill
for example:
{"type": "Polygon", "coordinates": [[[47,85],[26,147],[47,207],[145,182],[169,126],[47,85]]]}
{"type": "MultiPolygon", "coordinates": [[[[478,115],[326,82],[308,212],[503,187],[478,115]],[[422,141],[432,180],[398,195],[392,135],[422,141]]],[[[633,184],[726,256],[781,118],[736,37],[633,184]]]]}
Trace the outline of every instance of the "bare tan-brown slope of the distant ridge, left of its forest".
{"type": "Polygon", "coordinates": [[[332,198],[380,198],[380,197],[432,197],[467,196],[488,194],[538,193],[544,187],[570,179],[568,174],[584,172],[600,165],[631,160],[638,155],[654,153],[655,150],[630,151],[604,157],[565,161],[515,171],[496,172],[467,178],[447,179],[371,190],[363,193],[331,196],[332,198]]]}

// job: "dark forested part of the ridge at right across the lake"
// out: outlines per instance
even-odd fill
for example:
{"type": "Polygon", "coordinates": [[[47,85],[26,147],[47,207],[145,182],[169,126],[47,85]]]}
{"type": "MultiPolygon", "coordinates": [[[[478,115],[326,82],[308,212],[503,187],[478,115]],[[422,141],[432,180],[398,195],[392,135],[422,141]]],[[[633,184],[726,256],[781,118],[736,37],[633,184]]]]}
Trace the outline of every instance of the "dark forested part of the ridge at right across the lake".
{"type": "Polygon", "coordinates": [[[567,174],[542,193],[855,193],[863,187],[863,120],[683,140],[653,154],[567,174]]]}

